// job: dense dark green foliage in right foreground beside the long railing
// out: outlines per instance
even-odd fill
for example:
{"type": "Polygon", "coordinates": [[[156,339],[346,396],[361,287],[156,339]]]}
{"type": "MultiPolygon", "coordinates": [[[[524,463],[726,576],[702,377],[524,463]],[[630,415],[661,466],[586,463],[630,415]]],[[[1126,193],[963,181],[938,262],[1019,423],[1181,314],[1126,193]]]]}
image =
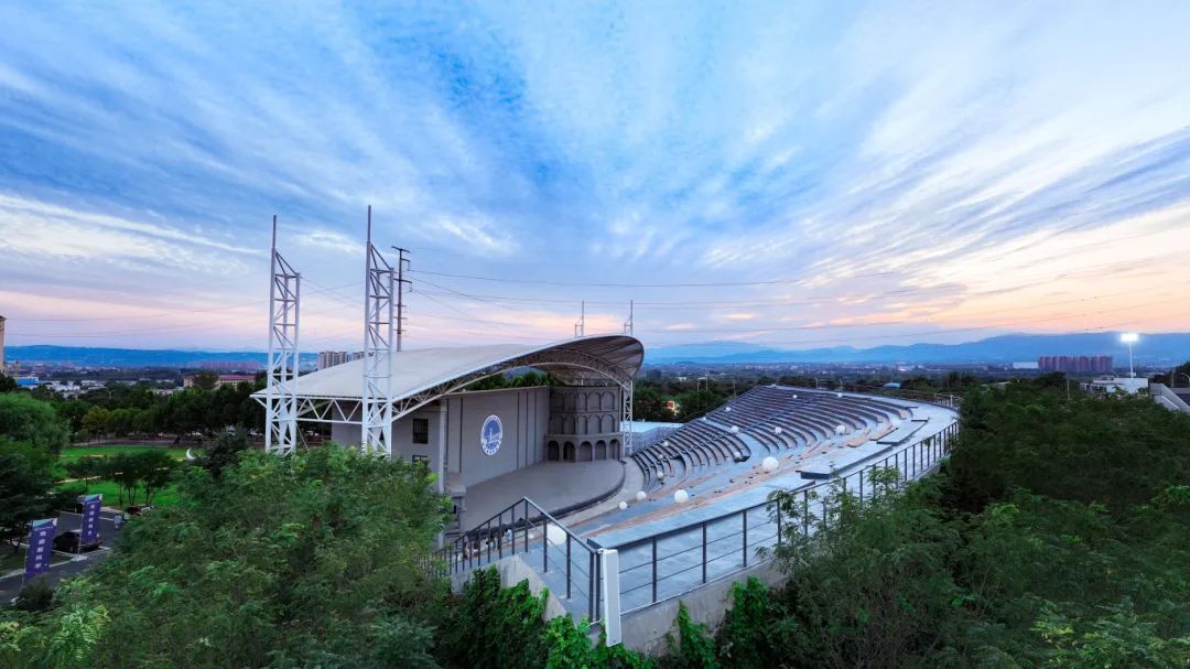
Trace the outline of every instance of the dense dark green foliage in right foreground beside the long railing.
{"type": "Polygon", "coordinates": [[[810,505],[814,532],[776,551],[777,604],[747,614],[782,662],[1190,663],[1190,420],[1048,381],[971,390],[962,420],[941,475],[810,505]]]}

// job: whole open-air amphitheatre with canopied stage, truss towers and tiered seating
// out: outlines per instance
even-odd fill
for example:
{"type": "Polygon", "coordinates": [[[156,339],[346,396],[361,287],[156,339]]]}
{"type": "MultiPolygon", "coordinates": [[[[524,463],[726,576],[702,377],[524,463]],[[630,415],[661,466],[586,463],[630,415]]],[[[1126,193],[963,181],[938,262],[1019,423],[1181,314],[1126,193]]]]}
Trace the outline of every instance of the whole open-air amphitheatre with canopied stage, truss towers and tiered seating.
{"type": "MultiPolygon", "coordinates": [[[[421,462],[453,518],[427,569],[461,586],[495,565],[549,588],[549,612],[609,643],[650,648],[683,601],[721,601],[768,552],[828,523],[832,492],[860,501],[937,467],[953,400],[760,386],[682,425],[632,420],[645,346],[631,332],[541,345],[402,350],[405,258],[368,242],[365,351],[299,377],[300,275],[273,251],[265,448],[299,423],[381,457],[421,462]],[[511,387],[486,388],[495,376],[511,387]],[[770,504],[782,492],[794,511],[770,504]],[[800,501],[798,501],[800,500],[800,501]]],[[[708,611],[721,612],[720,606],[708,611]]]]}

